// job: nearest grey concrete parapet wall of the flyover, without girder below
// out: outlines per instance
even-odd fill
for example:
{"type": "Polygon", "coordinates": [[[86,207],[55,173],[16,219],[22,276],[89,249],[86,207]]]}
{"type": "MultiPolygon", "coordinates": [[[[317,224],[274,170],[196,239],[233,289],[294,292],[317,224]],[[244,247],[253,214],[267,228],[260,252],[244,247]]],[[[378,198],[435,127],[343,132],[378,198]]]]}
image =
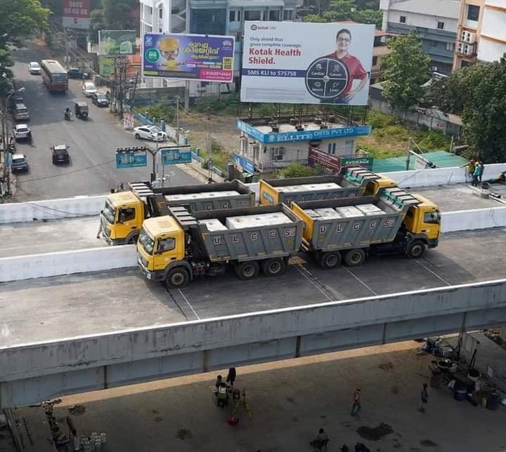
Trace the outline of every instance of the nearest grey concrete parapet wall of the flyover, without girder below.
{"type": "Polygon", "coordinates": [[[0,347],[0,381],[505,307],[501,279],[27,343],[0,347]]]}

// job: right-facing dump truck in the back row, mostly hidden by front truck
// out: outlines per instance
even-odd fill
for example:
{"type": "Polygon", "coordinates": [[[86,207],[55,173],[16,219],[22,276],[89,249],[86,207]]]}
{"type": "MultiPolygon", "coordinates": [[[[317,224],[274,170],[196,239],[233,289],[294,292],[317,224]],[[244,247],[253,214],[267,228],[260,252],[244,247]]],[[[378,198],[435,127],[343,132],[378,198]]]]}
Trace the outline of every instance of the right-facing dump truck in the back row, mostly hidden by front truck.
{"type": "Polygon", "coordinates": [[[260,204],[320,201],[374,195],[382,188],[397,187],[395,180],[360,167],[343,168],[339,174],[307,178],[260,180],[260,204]]]}

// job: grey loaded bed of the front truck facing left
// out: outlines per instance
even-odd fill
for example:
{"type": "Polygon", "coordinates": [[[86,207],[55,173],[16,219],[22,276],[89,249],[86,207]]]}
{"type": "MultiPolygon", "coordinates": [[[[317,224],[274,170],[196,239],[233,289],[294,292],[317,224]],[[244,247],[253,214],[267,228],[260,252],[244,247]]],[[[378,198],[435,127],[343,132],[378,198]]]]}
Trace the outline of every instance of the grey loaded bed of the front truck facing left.
{"type": "Polygon", "coordinates": [[[193,214],[170,210],[211,262],[287,257],[301,246],[303,222],[283,204],[193,214]]]}

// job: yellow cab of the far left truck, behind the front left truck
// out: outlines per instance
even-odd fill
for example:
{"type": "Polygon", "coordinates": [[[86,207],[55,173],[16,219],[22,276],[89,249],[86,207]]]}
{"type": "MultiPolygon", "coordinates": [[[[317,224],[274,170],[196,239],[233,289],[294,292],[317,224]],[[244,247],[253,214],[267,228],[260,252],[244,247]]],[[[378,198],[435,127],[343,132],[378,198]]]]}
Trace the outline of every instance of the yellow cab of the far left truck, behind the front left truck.
{"type": "Polygon", "coordinates": [[[100,213],[100,232],[110,245],[134,244],[145,218],[145,205],[133,192],[112,193],[100,213]]]}

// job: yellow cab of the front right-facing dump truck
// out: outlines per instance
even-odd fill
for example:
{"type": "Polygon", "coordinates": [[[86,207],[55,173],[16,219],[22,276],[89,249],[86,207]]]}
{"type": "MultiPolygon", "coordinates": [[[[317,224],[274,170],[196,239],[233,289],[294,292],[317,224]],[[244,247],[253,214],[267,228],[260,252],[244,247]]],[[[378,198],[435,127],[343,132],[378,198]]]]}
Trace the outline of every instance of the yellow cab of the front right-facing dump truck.
{"type": "Polygon", "coordinates": [[[404,217],[404,226],[411,234],[421,237],[428,248],[436,248],[441,233],[441,212],[429,199],[413,194],[420,204],[411,206],[404,217]]]}

